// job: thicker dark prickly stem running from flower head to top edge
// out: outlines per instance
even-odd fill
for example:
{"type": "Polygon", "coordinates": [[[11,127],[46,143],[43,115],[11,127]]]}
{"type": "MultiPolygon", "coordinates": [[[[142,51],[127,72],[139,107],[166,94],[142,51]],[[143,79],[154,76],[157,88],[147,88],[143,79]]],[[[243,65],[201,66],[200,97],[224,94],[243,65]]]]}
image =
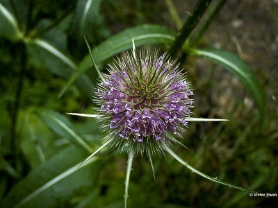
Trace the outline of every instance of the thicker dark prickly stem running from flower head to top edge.
{"type": "Polygon", "coordinates": [[[193,14],[186,19],[186,22],[183,24],[181,31],[179,31],[172,47],[170,49],[170,54],[172,56],[177,55],[179,50],[182,48],[183,43],[188,40],[190,33],[193,31],[195,26],[197,26],[199,19],[201,19],[202,15],[206,11],[206,8],[210,5],[212,0],[199,0],[193,9],[193,14]]]}

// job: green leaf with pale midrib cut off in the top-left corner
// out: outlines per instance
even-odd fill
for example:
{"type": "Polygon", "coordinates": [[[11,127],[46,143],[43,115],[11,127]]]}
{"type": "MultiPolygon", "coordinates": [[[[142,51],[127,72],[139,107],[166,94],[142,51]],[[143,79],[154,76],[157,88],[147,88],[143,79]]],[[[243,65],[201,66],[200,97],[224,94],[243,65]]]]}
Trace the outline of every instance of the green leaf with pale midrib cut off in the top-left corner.
{"type": "Polygon", "coordinates": [[[11,40],[18,40],[23,37],[15,17],[0,3],[0,35],[11,40]]]}

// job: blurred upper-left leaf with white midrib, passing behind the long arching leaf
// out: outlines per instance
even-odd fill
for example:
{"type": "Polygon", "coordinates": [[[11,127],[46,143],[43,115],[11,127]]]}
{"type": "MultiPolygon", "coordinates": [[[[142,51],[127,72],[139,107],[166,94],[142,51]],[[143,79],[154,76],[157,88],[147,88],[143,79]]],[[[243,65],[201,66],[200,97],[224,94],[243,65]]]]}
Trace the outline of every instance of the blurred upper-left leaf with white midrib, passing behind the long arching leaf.
{"type": "MultiPolygon", "coordinates": [[[[46,40],[26,40],[26,45],[31,63],[38,67],[47,68],[66,79],[77,69],[76,64],[67,55],[46,40]]],[[[87,75],[80,76],[76,84],[88,98],[91,98],[95,86],[87,75]]]]}

